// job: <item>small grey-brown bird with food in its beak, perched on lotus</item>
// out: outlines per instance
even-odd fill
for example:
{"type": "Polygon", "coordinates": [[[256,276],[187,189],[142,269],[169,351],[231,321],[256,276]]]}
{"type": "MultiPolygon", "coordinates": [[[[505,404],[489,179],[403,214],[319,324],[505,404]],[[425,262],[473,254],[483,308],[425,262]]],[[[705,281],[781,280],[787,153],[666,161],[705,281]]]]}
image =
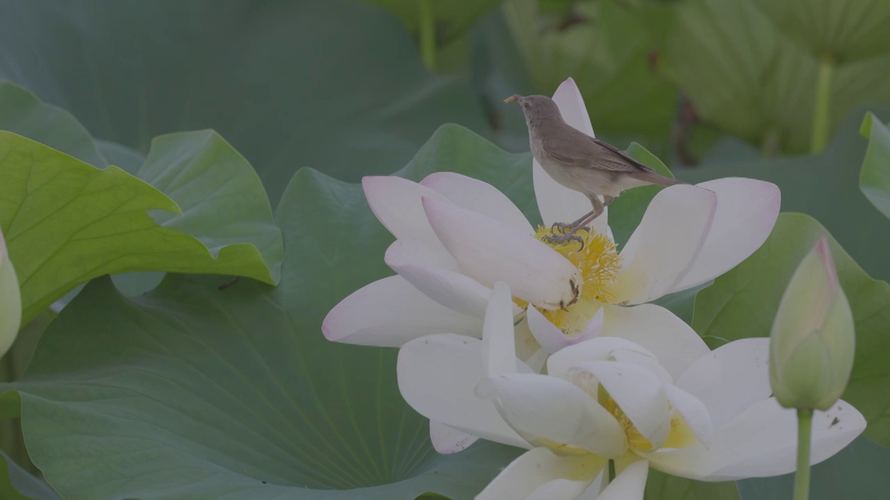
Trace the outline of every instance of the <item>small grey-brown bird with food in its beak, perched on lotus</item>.
{"type": "Polygon", "coordinates": [[[687,183],[661,175],[610,143],[595,139],[565,123],[559,107],[546,95],[522,96],[514,93],[504,100],[505,103],[514,101],[519,103],[525,114],[531,155],[554,181],[582,193],[593,205],[593,210],[575,222],[554,223],[551,233],[559,228],[562,234],[544,237],[549,243],[575,240],[583,248],[584,240],[575,233],[603,214],[605,207],[624,190],[652,184],[673,186],[687,183]]]}

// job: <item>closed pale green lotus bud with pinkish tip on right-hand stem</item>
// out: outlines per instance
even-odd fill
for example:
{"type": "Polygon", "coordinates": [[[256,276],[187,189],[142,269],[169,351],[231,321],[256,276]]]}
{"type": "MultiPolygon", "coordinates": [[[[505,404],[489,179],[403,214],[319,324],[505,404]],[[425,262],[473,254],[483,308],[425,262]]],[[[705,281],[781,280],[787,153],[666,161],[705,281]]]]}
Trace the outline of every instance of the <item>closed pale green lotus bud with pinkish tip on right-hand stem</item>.
{"type": "Polygon", "coordinates": [[[794,271],[770,335],[770,383],[781,406],[827,410],[846,388],[853,312],[823,236],[794,271]]]}

